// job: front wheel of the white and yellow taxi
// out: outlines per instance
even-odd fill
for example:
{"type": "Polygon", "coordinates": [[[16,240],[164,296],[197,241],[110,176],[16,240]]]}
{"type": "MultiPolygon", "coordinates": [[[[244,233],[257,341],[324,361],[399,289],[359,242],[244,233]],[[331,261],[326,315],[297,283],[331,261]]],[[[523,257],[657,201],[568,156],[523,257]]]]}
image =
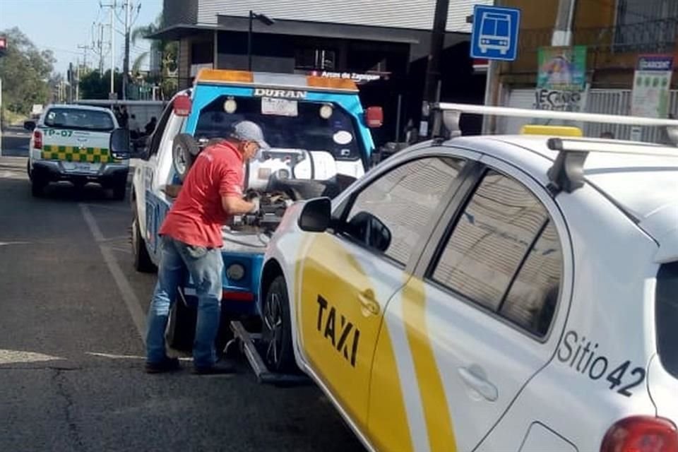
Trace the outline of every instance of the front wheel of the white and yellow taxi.
{"type": "Polygon", "coordinates": [[[292,321],[287,285],[281,275],[268,287],[263,302],[261,339],[263,359],[270,371],[295,373],[298,371],[292,347],[292,321]]]}

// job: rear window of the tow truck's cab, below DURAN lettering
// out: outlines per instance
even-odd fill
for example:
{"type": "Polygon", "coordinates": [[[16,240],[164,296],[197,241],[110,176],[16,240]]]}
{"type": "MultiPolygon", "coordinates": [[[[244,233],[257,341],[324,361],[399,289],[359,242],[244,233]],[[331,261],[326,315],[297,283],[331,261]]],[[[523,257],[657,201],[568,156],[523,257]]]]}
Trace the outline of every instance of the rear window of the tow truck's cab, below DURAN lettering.
{"type": "Polygon", "coordinates": [[[362,155],[350,114],[324,102],[220,96],[201,110],[194,136],[225,137],[232,124],[244,119],[261,126],[271,148],[326,150],[335,160],[362,155]]]}

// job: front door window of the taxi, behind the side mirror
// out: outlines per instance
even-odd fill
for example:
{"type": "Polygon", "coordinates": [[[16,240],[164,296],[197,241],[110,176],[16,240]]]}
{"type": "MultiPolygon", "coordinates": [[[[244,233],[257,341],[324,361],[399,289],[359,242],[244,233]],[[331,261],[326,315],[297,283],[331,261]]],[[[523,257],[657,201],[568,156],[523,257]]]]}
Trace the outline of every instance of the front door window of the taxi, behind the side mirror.
{"type": "Polygon", "coordinates": [[[381,175],[357,195],[341,232],[405,266],[463,165],[426,157],[381,175]]]}

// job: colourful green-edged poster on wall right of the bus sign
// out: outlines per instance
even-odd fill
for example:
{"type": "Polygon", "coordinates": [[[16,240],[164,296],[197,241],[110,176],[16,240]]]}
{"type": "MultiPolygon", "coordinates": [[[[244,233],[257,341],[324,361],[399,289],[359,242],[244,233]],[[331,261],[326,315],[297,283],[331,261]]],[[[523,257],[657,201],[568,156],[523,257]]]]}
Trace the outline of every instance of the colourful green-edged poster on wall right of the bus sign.
{"type": "Polygon", "coordinates": [[[586,46],[539,48],[535,109],[581,112],[585,92],[586,46]]]}

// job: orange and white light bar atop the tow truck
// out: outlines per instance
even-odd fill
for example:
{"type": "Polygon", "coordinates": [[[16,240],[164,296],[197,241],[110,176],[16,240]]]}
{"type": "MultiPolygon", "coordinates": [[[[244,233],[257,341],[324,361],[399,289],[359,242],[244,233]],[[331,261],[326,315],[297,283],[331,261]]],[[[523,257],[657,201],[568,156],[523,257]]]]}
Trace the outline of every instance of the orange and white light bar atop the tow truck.
{"type": "Polygon", "coordinates": [[[270,88],[313,89],[332,91],[357,91],[354,81],[345,78],[306,76],[294,73],[232,71],[226,69],[201,69],[195,83],[256,85],[270,88]]]}

